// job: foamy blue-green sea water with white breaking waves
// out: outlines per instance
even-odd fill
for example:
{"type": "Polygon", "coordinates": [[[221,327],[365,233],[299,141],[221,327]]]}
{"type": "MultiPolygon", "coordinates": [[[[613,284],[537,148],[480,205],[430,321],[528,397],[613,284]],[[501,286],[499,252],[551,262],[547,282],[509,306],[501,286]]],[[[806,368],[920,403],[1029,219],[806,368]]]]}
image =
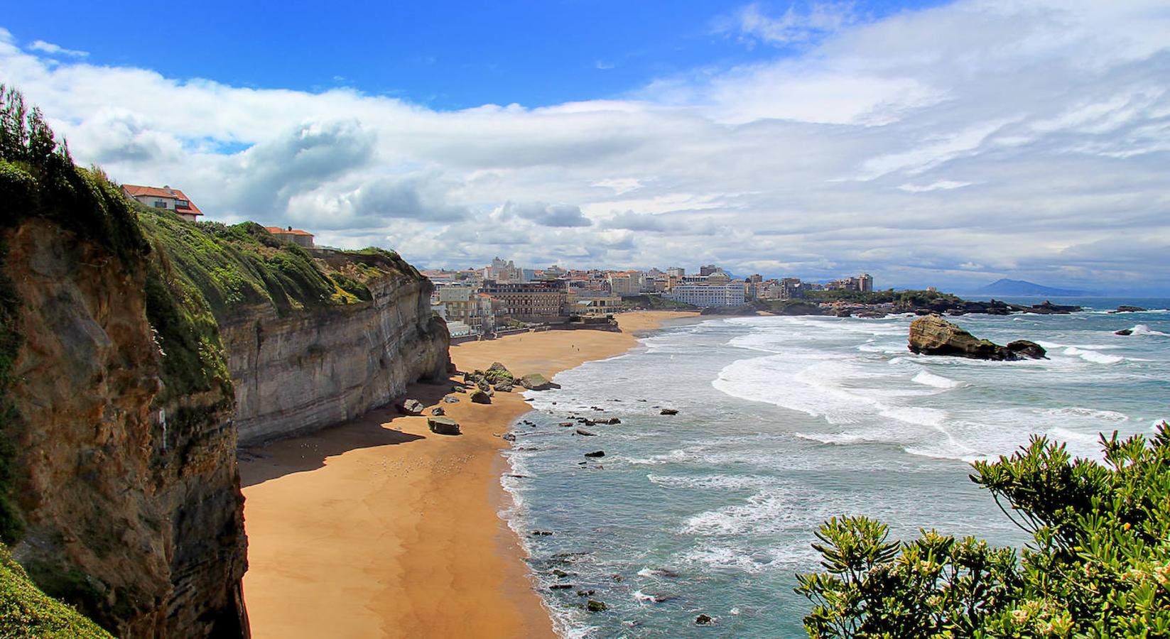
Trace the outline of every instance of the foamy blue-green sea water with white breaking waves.
{"type": "Polygon", "coordinates": [[[971,482],[972,460],[1031,435],[1099,459],[1099,433],[1170,418],[1170,301],[1113,315],[1130,302],[1107,302],[954,318],[1000,344],[1038,342],[1042,360],[913,355],[910,316],[735,317],[668,325],[562,372],[560,390],[526,393],[531,425],[515,426],[502,479],[558,631],[803,637],[796,575],[818,569],[813,532],[834,515],[879,518],[901,540],[932,528],[1023,544],[971,482]],[[574,417],[621,422],[559,425],[574,417]],[[589,599],[608,610],[587,612],[589,599]],[[715,623],[697,626],[700,613],[715,623]]]}

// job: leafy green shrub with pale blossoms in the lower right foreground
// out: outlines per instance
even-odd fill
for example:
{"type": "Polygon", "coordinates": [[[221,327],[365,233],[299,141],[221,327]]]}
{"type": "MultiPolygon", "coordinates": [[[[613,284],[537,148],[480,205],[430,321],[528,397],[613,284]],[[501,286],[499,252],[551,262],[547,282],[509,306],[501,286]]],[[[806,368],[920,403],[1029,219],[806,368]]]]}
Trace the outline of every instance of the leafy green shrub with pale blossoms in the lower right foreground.
{"type": "Polygon", "coordinates": [[[1117,434],[1104,463],[1033,438],[976,462],[971,480],[1032,535],[1017,554],[922,531],[909,543],[866,517],[833,518],[798,576],[811,637],[1170,637],[1170,426],[1117,434]],[[1006,502],[1006,506],[1005,503],[1006,502]]]}

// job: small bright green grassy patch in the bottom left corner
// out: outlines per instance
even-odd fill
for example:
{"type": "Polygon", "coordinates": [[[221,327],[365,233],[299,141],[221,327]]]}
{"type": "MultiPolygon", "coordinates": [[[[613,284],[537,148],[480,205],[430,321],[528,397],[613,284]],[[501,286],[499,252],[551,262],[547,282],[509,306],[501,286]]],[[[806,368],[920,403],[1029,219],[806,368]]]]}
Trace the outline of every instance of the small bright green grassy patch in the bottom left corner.
{"type": "Polygon", "coordinates": [[[8,549],[0,544],[0,637],[89,639],[112,635],[36,588],[8,549]]]}

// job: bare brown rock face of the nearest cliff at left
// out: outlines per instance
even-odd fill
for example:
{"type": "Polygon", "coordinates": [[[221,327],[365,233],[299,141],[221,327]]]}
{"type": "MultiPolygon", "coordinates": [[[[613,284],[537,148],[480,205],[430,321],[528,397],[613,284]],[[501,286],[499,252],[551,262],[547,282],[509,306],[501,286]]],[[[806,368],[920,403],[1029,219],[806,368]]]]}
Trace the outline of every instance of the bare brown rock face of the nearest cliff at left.
{"type": "Polygon", "coordinates": [[[0,241],[21,335],[4,426],[25,521],[13,556],[123,638],[248,635],[230,385],[167,392],[140,256],[37,218],[0,241]]]}

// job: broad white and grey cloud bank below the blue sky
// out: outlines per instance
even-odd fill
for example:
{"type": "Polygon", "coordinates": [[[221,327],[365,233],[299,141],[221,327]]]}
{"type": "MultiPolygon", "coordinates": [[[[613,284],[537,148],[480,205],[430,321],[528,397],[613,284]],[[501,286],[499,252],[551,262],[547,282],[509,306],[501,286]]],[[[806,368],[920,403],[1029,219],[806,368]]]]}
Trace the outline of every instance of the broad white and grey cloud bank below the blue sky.
{"type": "Polygon", "coordinates": [[[2,30],[0,82],[118,180],[420,266],[1170,282],[1164,1],[751,5],[725,33],[777,56],[541,108],[173,78],[2,30]]]}

